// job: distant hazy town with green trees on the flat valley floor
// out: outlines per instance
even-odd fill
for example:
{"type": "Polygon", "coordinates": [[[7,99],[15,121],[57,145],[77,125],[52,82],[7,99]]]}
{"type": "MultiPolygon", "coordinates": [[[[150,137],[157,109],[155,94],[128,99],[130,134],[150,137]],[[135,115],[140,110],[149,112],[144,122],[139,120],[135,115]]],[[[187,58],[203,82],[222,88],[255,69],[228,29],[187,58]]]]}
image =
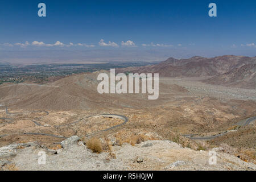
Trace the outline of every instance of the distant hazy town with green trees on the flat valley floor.
{"type": "Polygon", "coordinates": [[[32,64],[11,65],[0,63],[0,84],[4,82],[20,83],[24,81],[36,84],[58,80],[59,78],[82,72],[95,72],[101,69],[140,67],[145,62],[106,63],[106,64],[32,64]]]}

